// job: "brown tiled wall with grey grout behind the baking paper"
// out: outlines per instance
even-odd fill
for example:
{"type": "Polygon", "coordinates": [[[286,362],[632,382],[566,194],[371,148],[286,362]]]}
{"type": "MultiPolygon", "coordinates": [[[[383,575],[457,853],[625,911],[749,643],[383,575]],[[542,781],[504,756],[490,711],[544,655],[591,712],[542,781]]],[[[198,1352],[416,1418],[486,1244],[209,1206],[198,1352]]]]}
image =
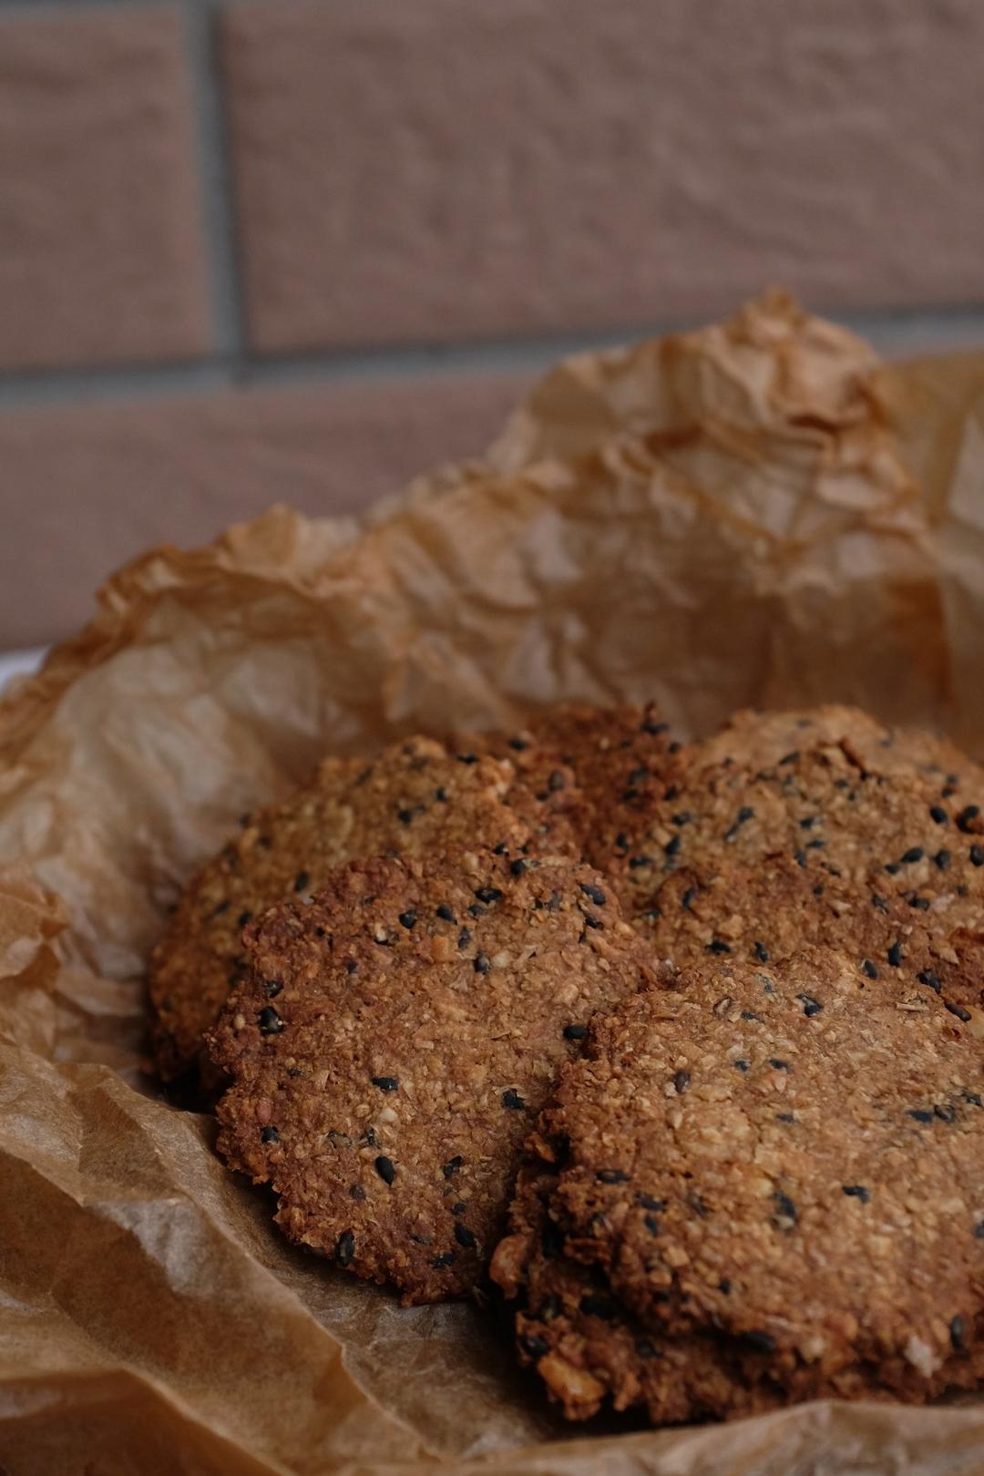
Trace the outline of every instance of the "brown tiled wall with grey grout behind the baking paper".
{"type": "Polygon", "coordinates": [[[984,344],[981,0],[0,0],[0,646],[767,282],[984,344]]]}

